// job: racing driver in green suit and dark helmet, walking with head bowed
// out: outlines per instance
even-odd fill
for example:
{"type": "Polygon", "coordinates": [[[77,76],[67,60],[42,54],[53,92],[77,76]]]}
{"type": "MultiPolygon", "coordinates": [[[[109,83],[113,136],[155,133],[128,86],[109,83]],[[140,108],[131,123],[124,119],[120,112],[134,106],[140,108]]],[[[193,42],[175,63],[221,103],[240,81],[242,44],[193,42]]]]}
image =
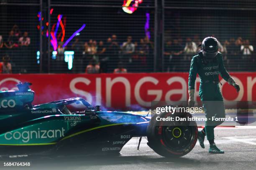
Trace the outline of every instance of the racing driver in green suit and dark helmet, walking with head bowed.
{"type": "Polygon", "coordinates": [[[219,74],[228,84],[235,87],[237,92],[239,92],[240,87],[224,67],[222,54],[218,52],[218,40],[216,38],[206,37],[202,41],[201,50],[191,60],[188,82],[189,107],[195,105],[194,94],[197,73],[200,77],[199,96],[205,111],[205,117],[207,117],[205,128],[198,132],[200,146],[205,148],[206,135],[210,143],[209,153],[224,153],[214,143],[214,128],[223,121],[212,121],[213,116],[225,117],[225,107],[219,87],[219,74]]]}

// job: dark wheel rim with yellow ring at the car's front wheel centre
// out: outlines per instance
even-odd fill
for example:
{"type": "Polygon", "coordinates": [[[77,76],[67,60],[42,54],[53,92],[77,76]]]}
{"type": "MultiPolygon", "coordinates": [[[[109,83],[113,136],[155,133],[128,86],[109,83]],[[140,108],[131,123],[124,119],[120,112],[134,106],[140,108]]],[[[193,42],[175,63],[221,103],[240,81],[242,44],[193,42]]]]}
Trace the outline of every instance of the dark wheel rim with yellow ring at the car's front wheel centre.
{"type": "Polygon", "coordinates": [[[163,142],[169,149],[184,150],[190,146],[192,140],[191,126],[163,127],[163,142]]]}

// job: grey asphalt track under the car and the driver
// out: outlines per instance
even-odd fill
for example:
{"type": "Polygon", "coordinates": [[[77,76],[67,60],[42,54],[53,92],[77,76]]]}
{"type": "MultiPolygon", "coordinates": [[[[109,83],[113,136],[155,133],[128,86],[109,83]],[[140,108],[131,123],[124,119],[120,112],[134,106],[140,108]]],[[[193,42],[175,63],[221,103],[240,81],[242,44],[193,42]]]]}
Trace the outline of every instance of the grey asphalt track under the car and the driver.
{"type": "Polygon", "coordinates": [[[143,138],[139,151],[137,138],[132,138],[121,150],[122,155],[113,157],[60,157],[30,158],[30,160],[9,160],[10,162],[30,162],[30,167],[4,167],[6,160],[0,161],[0,170],[256,170],[256,128],[217,128],[215,143],[225,154],[208,153],[197,142],[195,148],[182,158],[164,158],[154,153],[143,138]]]}

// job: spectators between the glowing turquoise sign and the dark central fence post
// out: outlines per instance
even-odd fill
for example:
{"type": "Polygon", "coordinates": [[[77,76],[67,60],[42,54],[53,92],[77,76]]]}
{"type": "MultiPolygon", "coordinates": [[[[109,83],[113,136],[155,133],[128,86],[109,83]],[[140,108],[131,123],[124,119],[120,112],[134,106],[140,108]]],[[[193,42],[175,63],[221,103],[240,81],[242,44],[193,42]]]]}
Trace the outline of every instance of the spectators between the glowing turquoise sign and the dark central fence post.
{"type": "Polygon", "coordinates": [[[118,40],[116,35],[105,42],[81,42],[76,37],[71,47],[77,56],[74,72],[146,72],[152,58],[149,55],[153,54],[153,42],[147,37],[141,38],[140,42],[134,42],[131,36],[125,42],[118,40]]]}

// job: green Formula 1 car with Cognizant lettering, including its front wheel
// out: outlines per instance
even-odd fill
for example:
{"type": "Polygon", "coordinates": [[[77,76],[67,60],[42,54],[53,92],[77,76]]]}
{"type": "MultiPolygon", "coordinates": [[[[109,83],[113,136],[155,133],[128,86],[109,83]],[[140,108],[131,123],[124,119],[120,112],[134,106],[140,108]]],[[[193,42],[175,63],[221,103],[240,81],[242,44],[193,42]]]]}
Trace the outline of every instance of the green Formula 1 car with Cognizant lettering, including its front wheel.
{"type": "Polygon", "coordinates": [[[197,142],[195,122],[158,125],[156,114],[101,111],[79,97],[32,105],[30,85],[20,83],[18,91],[0,92],[1,157],[118,154],[133,137],[147,137],[148,146],[159,155],[180,157],[197,142]]]}

